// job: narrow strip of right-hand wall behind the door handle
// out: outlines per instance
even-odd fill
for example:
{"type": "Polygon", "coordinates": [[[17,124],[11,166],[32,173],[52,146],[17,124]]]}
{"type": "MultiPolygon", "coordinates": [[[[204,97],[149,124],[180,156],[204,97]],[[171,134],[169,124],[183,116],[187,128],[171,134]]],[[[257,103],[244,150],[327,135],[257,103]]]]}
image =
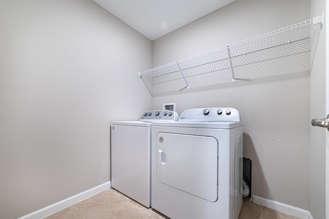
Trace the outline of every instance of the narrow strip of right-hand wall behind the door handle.
{"type": "MultiPolygon", "coordinates": [[[[311,1],[311,15],[318,16],[325,12],[325,0],[311,1]]],[[[319,42],[310,75],[310,119],[326,116],[325,85],[325,36],[326,28],[322,26],[319,42]]],[[[325,217],[325,135],[327,130],[319,127],[310,128],[309,146],[309,210],[314,218],[325,217]]],[[[328,214],[329,212],[327,212],[328,214]]]]}

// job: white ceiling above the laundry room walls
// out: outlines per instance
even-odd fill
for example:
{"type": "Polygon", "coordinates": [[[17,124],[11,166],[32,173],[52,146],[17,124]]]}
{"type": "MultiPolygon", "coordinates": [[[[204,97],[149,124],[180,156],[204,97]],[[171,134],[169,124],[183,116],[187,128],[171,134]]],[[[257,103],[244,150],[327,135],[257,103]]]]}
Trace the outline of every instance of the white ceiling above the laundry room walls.
{"type": "Polygon", "coordinates": [[[154,41],[235,0],[93,0],[154,41]]]}

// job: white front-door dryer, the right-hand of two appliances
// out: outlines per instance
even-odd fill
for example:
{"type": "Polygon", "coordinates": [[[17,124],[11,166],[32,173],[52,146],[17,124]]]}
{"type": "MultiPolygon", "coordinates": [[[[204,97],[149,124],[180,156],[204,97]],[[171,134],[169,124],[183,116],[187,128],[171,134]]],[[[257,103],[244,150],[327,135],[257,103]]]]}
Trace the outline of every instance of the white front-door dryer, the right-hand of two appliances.
{"type": "Polygon", "coordinates": [[[237,219],[243,126],[234,108],[199,108],[152,123],[151,206],[170,218],[237,219]]]}

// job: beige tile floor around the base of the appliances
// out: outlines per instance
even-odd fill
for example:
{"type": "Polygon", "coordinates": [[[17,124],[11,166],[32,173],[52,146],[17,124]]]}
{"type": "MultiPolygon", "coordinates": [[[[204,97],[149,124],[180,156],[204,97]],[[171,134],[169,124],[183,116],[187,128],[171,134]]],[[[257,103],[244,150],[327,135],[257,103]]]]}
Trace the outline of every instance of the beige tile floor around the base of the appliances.
{"type": "MultiPolygon", "coordinates": [[[[163,219],[167,218],[152,208],[148,209],[114,189],[107,189],[75,205],[51,214],[46,219],[163,219]]],[[[218,217],[220,218],[220,217],[218,217]]],[[[250,201],[243,201],[239,219],[296,219],[250,201]]],[[[205,218],[206,219],[206,218],[205,218]]]]}

